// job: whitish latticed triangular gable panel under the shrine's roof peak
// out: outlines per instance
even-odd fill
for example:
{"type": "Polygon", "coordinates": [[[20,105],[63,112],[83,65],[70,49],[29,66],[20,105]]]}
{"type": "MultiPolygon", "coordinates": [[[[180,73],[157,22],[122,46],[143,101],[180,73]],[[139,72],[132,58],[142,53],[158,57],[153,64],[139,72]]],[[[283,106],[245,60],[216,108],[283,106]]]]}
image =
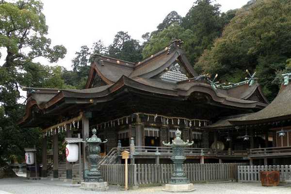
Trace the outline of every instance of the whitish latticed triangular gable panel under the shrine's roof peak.
{"type": "Polygon", "coordinates": [[[163,81],[171,81],[171,82],[178,82],[189,79],[186,75],[186,70],[179,65],[178,63],[174,63],[169,66],[164,72],[162,72],[159,79],[163,81]]]}

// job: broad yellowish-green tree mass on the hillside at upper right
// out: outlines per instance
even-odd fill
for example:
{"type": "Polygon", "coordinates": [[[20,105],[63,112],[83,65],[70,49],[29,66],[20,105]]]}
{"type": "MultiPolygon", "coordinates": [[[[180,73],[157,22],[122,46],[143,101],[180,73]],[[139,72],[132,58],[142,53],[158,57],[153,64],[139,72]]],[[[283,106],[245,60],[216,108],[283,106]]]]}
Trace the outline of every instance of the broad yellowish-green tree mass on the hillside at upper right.
{"type": "Polygon", "coordinates": [[[196,70],[218,73],[226,80],[246,68],[257,71],[263,92],[273,99],[278,91],[275,72],[284,69],[291,56],[289,13],[290,0],[249,2],[237,11],[214,46],[204,51],[196,70]]]}

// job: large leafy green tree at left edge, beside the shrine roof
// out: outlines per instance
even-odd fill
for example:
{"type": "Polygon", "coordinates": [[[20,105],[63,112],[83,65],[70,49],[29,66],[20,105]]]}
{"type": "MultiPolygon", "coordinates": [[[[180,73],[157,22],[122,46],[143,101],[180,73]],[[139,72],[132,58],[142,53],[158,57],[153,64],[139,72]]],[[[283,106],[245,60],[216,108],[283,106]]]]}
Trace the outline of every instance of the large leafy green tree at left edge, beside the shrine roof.
{"type": "Polygon", "coordinates": [[[44,57],[49,62],[64,58],[62,45],[51,47],[46,37],[48,26],[38,0],[0,1],[0,160],[12,155],[23,157],[23,147],[39,142],[38,129],[20,129],[17,121],[24,106],[17,100],[22,86],[65,87],[60,67],[42,66],[33,59],[44,57]]]}

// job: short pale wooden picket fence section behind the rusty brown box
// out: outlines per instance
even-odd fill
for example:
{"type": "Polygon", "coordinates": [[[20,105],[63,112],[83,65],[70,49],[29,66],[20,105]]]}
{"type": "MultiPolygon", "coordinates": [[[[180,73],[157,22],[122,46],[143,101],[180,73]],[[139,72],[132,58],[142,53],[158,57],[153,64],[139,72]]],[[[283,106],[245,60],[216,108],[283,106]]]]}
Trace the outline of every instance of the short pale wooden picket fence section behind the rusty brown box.
{"type": "Polygon", "coordinates": [[[268,165],[268,166],[238,166],[239,182],[259,182],[260,171],[277,170],[280,172],[280,181],[291,180],[291,165],[268,165]]]}

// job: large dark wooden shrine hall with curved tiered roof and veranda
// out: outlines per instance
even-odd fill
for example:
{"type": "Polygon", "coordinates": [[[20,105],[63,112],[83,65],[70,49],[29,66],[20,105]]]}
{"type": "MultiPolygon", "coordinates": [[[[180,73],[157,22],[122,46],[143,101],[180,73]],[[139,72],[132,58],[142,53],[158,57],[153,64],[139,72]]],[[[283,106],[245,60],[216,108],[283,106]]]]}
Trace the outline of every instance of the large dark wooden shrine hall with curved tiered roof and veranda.
{"type": "MultiPolygon", "coordinates": [[[[290,84],[268,106],[255,74],[246,72],[245,81],[227,84],[216,82],[217,76],[198,75],[181,44],[175,40],[138,63],[96,55],[81,90],[26,88],[26,113],[19,125],[42,129],[42,163],[47,169],[51,157],[51,177],[62,176],[59,155],[65,150],[58,142],[78,133],[89,138],[94,128],[102,141],[108,140],[101,147],[101,164],[120,162],[120,150],[130,151],[131,163],[169,163],[170,148],[162,142],[171,142],[177,128],[182,139],[194,141],[185,150],[186,162],[274,162],[249,150],[290,145],[289,128],[286,137],[276,136],[290,124],[291,109],[285,109],[287,117],[279,113],[286,105],[281,101],[290,101],[290,84]],[[275,113],[285,119],[284,126],[275,113]]],[[[72,177],[69,170],[66,178],[72,177]]]]}

